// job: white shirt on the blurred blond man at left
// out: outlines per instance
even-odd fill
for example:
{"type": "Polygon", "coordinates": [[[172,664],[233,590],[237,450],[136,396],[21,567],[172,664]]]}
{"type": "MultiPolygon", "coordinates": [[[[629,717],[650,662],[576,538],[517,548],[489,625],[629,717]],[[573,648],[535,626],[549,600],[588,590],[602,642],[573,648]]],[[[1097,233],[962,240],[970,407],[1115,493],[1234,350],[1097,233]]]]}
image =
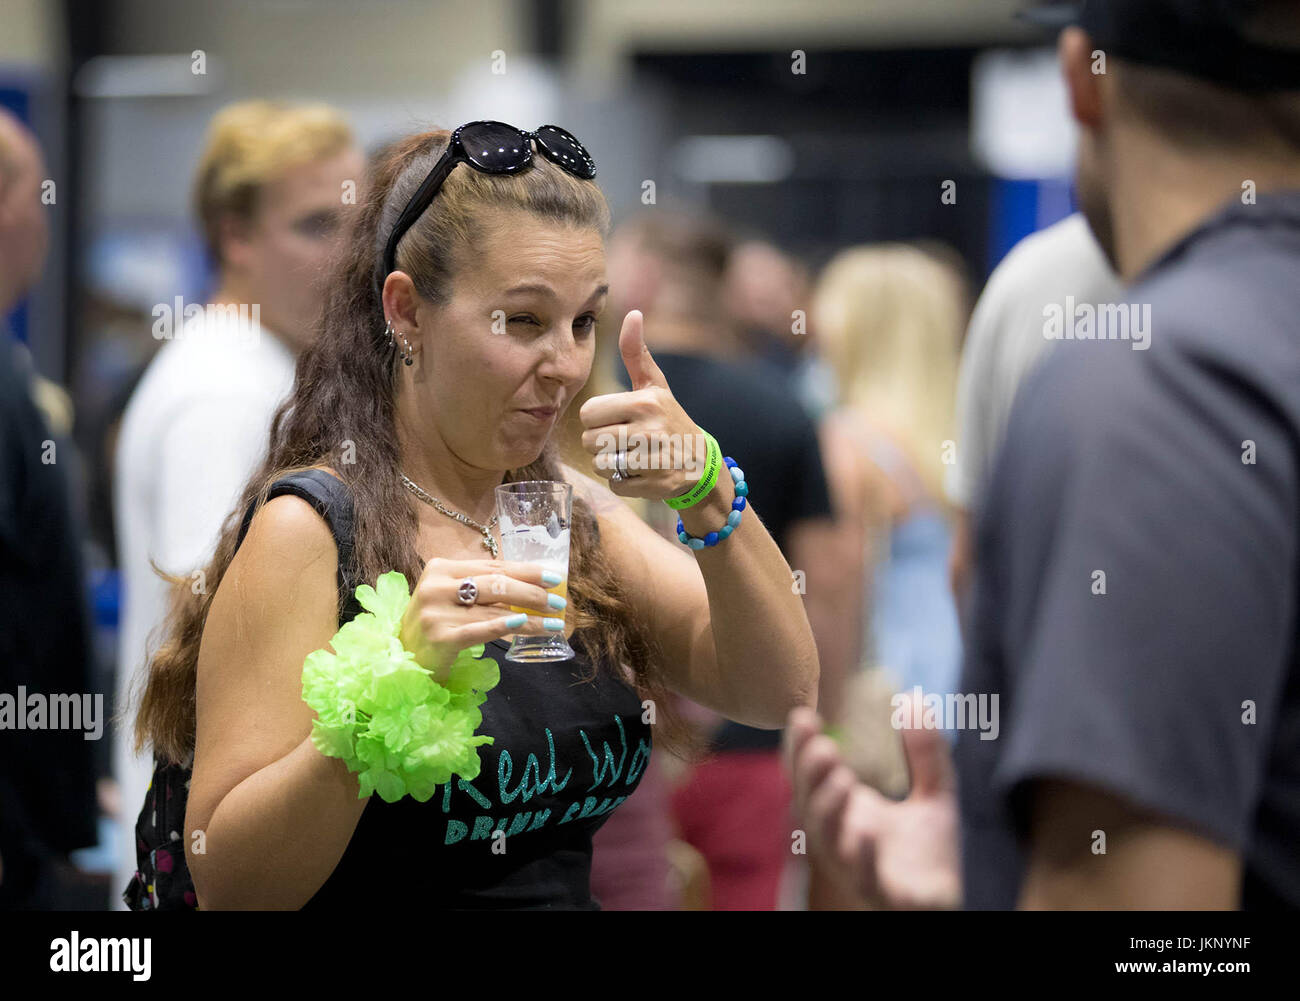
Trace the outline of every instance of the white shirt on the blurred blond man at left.
{"type": "Polygon", "coordinates": [[[186,576],[207,566],[222,523],[265,458],[294,368],[292,352],[269,330],[209,309],[159,350],[122,420],[113,477],[122,572],[117,706],[127,694],[133,705],[113,748],[122,810],[110,894],[117,909],[125,909],[121,893],[135,874],[135,822],[153,772],[148,753],[131,751],[146,650],[159,646],[151,633],[162,624],[169,592],[150,558],[186,576]]]}

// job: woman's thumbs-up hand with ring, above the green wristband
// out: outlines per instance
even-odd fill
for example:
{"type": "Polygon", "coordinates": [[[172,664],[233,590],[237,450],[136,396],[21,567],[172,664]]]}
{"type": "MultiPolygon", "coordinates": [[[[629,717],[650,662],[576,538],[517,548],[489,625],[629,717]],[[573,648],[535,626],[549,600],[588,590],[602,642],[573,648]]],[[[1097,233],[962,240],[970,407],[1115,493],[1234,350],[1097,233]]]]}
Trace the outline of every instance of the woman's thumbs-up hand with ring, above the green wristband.
{"type": "Polygon", "coordinates": [[[703,469],[705,439],[646,347],[640,309],[623,318],[619,354],[632,390],[592,396],[582,404],[582,447],[592,454],[597,474],[606,477],[620,497],[659,499],[684,494],[703,469]],[[616,476],[619,454],[627,477],[616,476]]]}

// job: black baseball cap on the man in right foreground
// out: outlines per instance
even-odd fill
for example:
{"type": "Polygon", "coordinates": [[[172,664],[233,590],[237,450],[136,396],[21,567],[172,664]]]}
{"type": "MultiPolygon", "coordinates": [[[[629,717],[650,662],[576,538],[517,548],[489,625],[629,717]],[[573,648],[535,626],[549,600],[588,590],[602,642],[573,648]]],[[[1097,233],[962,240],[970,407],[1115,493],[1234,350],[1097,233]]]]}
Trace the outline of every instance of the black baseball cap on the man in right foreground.
{"type": "Polygon", "coordinates": [[[1261,0],[1082,0],[1019,13],[1049,29],[1078,25],[1104,52],[1245,91],[1300,90],[1300,47],[1279,48],[1247,25],[1261,0]]]}

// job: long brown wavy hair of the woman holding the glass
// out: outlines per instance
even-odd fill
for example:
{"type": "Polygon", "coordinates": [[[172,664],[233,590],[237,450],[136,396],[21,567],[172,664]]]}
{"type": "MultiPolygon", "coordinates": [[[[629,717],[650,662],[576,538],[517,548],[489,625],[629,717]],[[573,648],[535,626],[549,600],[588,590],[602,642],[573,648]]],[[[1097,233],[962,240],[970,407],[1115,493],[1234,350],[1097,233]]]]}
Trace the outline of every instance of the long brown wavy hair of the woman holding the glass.
{"type": "MultiPolygon", "coordinates": [[[[172,584],[164,637],[148,667],[135,719],[135,750],[151,744],[160,759],[183,762],[194,750],[195,681],[199,642],[208,608],[234,559],[243,512],[266,502],[270,485],[290,472],[329,465],[347,484],[354,504],[352,576],[372,582],[390,569],[410,584],[424,560],[416,552],[416,515],[402,486],[395,432],[400,360],[384,330],[380,257],[396,216],[446,150],[450,133],[437,130],[390,143],[374,159],[365,198],[352,222],[324,303],[318,335],[298,359],[292,393],[270,425],[266,458],[226,517],[200,589],[191,577],[172,584]],[[199,593],[195,593],[198,590],[199,593]]],[[[556,225],[595,228],[608,234],[610,211],[592,181],[580,181],[542,156],[512,176],[452,170],[438,198],[398,244],[396,265],[433,303],[451,298],[462,265],[482,237],[486,211],[530,212],[556,225]]],[[[554,441],[506,481],[562,480],[554,441]]],[[[693,759],[701,742],[675,712],[664,682],[663,653],[601,551],[589,504],[573,498],[569,610],[592,653],[595,673],[618,677],[625,664],[637,694],[653,699],[656,744],[693,759]]],[[[339,601],[346,595],[341,594],[339,601]]]]}

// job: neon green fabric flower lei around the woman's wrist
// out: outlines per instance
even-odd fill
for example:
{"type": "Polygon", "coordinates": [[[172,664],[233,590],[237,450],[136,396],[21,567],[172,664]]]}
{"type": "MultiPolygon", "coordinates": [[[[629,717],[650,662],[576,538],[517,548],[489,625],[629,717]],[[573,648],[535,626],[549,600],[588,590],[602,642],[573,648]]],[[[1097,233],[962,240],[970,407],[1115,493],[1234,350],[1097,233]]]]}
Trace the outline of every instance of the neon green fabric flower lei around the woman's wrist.
{"type": "Polygon", "coordinates": [[[452,775],[478,775],[474,734],[500,667],[484,645],[462,650],[438,684],[402,646],[402,616],[411,599],[406,576],[390,571],[356,589],[365,608],[334,634],[329,650],[303,662],[303,701],[316,710],[312,744],[342,758],[360,779],[359,800],[377,792],[389,803],[410,794],[426,802],[452,775]]]}

